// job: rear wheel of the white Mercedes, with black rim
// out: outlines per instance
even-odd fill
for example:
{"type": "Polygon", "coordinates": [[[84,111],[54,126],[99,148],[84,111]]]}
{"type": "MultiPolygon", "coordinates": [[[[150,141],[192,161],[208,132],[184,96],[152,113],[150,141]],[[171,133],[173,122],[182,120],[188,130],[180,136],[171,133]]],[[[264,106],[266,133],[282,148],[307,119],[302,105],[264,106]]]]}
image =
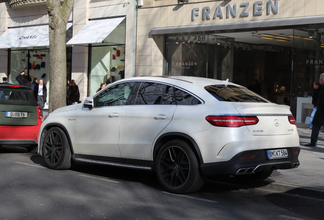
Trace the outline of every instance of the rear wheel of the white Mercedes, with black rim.
{"type": "Polygon", "coordinates": [[[194,193],[205,183],[195,153],[181,140],[169,141],[160,149],[156,175],[159,183],[175,194],[194,193]]]}

